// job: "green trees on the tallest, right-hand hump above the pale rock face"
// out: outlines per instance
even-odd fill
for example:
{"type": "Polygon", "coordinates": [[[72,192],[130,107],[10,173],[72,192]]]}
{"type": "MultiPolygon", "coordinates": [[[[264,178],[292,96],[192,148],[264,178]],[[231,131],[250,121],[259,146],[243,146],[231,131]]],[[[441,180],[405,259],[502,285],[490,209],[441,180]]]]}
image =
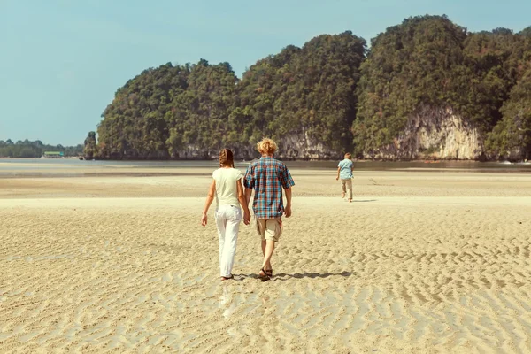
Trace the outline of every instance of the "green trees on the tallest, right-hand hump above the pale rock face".
{"type": "Polygon", "coordinates": [[[526,67],[528,40],[512,30],[467,33],[445,16],[389,27],[373,40],[358,86],[358,153],[404,132],[422,108],[450,109],[485,136],[526,67]]]}

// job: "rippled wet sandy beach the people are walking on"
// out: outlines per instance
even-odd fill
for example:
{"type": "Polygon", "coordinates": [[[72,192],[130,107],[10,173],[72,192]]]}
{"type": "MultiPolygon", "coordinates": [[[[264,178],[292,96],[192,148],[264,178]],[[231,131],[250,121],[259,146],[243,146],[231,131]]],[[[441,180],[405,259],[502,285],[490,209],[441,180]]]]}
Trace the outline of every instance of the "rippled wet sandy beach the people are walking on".
{"type": "Polygon", "coordinates": [[[0,352],[531,352],[531,174],[293,170],[220,282],[212,169],[55,171],[0,179],[0,352]]]}

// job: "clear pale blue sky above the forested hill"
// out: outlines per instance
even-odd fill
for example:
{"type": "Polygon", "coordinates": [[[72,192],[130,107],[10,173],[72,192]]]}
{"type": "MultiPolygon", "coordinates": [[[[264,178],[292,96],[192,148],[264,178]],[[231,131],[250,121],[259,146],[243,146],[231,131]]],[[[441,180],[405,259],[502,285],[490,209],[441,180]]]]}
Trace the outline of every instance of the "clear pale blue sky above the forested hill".
{"type": "Polygon", "coordinates": [[[528,0],[0,0],[0,140],[81,143],[116,89],[167,62],[227,61],[241,77],[315,35],[369,42],[424,14],[518,32],[530,13],[528,0]]]}

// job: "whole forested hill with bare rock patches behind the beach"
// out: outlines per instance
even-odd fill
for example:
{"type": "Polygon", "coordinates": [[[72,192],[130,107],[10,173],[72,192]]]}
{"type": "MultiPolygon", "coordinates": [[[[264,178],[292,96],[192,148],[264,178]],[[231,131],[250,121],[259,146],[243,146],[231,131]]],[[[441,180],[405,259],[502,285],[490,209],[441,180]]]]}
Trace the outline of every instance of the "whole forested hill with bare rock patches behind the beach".
{"type": "Polygon", "coordinates": [[[235,76],[228,63],[145,70],[116,92],[96,158],[530,158],[531,27],[470,33],[405,19],[371,42],[350,31],[288,46],[235,76]]]}

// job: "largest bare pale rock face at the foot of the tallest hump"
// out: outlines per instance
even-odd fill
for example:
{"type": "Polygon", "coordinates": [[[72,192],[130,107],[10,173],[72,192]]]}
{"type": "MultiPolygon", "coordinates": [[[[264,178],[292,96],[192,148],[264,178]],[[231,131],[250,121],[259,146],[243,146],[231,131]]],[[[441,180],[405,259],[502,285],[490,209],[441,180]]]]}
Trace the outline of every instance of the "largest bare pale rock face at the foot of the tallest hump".
{"type": "Polygon", "coordinates": [[[393,143],[367,151],[365,158],[481,160],[483,141],[476,127],[451,108],[422,107],[407,120],[393,143]]]}

